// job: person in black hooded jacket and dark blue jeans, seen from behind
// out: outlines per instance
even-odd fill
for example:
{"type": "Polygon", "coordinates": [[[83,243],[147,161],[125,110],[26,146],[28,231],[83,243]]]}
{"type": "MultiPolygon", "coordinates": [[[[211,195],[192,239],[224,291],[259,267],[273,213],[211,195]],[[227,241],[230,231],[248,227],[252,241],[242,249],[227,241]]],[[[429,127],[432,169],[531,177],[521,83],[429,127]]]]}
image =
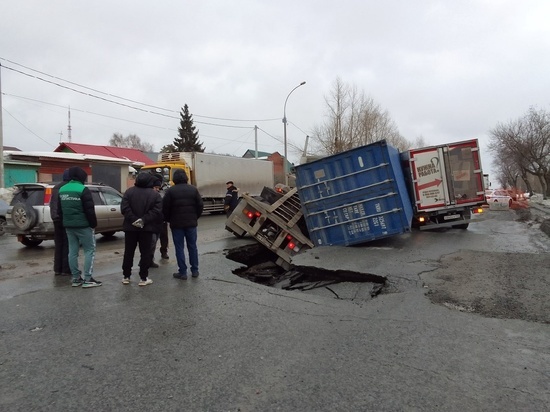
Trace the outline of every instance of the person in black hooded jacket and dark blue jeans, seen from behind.
{"type": "Polygon", "coordinates": [[[184,247],[187,242],[191,276],[199,276],[199,251],[197,249],[198,219],[202,215],[204,204],[195,186],[187,184],[188,177],[182,169],[177,169],[172,178],[174,186],[170,187],[162,200],[164,220],[170,224],[172,240],[176,250],[178,272],[176,279],[187,279],[187,264],[184,247]]]}

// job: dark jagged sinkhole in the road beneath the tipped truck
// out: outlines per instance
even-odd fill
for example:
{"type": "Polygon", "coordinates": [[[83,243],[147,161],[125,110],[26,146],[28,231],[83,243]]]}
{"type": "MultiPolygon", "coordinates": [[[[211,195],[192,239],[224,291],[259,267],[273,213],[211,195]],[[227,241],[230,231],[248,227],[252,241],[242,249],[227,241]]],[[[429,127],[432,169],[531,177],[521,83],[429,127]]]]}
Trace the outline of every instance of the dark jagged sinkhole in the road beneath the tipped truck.
{"type": "Polygon", "coordinates": [[[349,270],[328,270],[312,266],[294,265],[290,270],[278,266],[277,255],[260,244],[252,244],[229,249],[226,258],[246,266],[233,271],[233,274],[251,282],[285,290],[308,291],[326,288],[336,297],[338,292],[329,286],[342,282],[371,283],[371,297],[377,296],[387,286],[387,278],[372,273],[349,270]]]}

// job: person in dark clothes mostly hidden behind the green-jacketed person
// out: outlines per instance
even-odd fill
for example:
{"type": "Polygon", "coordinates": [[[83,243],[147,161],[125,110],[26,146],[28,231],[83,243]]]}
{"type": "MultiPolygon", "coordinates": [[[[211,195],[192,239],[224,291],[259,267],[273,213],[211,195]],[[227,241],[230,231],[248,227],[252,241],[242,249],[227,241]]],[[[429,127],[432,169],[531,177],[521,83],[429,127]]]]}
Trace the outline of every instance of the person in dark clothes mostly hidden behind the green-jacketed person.
{"type": "Polygon", "coordinates": [[[53,254],[53,271],[57,275],[70,276],[69,267],[69,240],[61,221],[59,213],[59,189],[69,181],[69,169],[63,172],[63,181],[52,188],[50,198],[50,217],[53,221],[53,241],[55,245],[53,254]]]}

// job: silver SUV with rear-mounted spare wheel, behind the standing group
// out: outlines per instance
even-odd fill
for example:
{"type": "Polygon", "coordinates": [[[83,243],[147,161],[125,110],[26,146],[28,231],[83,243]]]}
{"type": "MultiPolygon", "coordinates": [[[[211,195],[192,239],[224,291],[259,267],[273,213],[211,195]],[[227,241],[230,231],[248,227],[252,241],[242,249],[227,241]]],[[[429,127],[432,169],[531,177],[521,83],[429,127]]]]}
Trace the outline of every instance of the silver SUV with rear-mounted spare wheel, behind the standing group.
{"type": "MultiPolygon", "coordinates": [[[[16,235],[25,246],[38,246],[53,239],[50,198],[55,183],[19,183],[6,212],[5,232],[16,235]]],[[[86,184],[92,192],[97,216],[96,233],[113,236],[122,230],[124,217],[120,213],[122,194],[110,186],[86,184]]]]}

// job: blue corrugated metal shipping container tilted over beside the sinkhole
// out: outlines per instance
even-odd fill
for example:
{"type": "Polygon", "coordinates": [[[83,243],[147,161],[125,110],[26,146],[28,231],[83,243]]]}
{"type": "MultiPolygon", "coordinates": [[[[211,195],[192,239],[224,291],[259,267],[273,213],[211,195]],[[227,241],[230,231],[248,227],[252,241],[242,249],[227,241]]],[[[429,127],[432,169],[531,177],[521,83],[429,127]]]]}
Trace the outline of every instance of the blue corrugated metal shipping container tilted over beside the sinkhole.
{"type": "Polygon", "coordinates": [[[354,245],[411,230],[399,151],[385,140],[297,166],[296,187],[316,246],[354,245]]]}

